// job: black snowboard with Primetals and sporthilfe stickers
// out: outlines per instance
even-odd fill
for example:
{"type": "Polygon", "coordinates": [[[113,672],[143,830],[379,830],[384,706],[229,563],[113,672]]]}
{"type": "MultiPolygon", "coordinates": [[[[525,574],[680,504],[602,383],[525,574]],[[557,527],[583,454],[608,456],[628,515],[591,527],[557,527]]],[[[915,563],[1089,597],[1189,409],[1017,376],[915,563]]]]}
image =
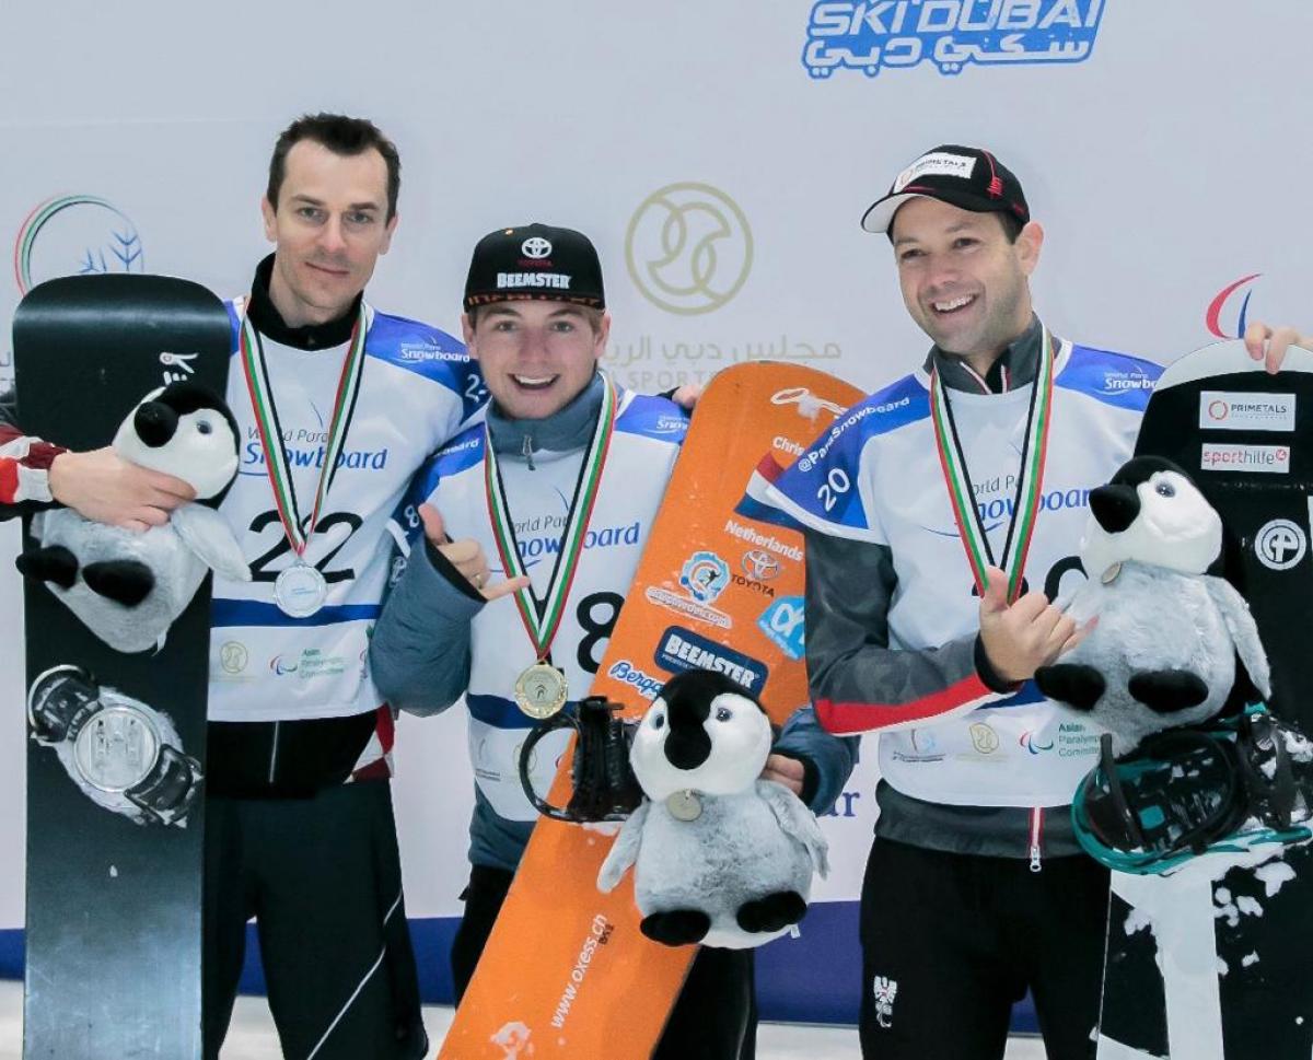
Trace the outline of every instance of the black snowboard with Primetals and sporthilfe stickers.
{"type": "MultiPolygon", "coordinates": [[[[1180,464],[1221,514],[1225,575],[1249,601],[1272,666],[1268,706],[1313,733],[1313,354],[1292,349],[1276,377],[1241,342],[1178,361],[1149,401],[1136,451],[1180,464]]],[[[1280,862],[1208,875],[1204,865],[1165,878],[1113,874],[1100,1060],[1313,1053],[1313,853],[1291,847],[1280,862]]]]}

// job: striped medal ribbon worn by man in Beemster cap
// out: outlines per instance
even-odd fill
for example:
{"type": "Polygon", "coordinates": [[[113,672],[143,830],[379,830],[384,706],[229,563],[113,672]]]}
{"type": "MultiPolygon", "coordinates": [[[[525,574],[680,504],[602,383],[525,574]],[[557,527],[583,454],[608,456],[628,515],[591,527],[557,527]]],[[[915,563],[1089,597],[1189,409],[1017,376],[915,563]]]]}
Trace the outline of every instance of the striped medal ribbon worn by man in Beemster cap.
{"type": "MultiPolygon", "coordinates": [[[[533,642],[537,659],[545,660],[551,651],[551,640],[557,635],[561,617],[565,613],[566,597],[570,594],[570,585],[574,582],[575,568],[579,565],[579,554],[583,551],[583,542],[588,534],[588,522],[592,520],[592,509],[597,500],[597,489],[601,485],[601,471],[607,463],[607,453],[611,449],[611,436],[616,426],[616,388],[611,379],[603,375],[601,412],[597,415],[597,426],[593,430],[592,441],[584,453],[583,464],[579,468],[579,481],[575,484],[575,495],[570,501],[570,512],[566,516],[566,529],[561,538],[561,550],[557,552],[557,561],[551,568],[551,580],[548,582],[548,593],[544,600],[533,594],[532,586],[525,586],[516,592],[515,602],[520,609],[520,618],[524,628],[533,642]]],[[[487,430],[484,428],[484,430],[487,430]]],[[[498,468],[496,453],[492,450],[492,436],[484,438],[486,457],[483,460],[483,484],[487,491],[488,517],[492,521],[492,537],[496,540],[498,554],[502,556],[502,568],[508,579],[521,577],[524,564],[520,560],[520,547],[515,539],[515,527],[511,522],[511,509],[506,501],[506,487],[502,484],[502,472],[498,468]]]]}

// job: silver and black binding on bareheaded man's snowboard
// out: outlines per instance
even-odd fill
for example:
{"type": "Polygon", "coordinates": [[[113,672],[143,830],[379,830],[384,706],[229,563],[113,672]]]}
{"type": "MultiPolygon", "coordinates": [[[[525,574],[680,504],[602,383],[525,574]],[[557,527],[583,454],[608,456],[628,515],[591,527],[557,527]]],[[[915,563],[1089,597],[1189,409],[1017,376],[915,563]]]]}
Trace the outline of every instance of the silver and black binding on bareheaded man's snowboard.
{"type": "Polygon", "coordinates": [[[92,802],[138,824],[185,823],[201,767],[165,715],[64,665],[32,683],[28,725],[92,802]]]}

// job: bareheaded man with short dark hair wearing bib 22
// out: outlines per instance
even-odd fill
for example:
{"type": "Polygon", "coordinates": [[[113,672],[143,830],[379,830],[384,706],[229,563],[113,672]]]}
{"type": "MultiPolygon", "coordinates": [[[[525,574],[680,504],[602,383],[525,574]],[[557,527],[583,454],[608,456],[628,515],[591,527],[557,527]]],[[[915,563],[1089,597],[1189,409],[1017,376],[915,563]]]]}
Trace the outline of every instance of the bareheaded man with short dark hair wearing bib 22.
{"type": "MultiPolygon", "coordinates": [[[[397,228],[399,167],[372,122],[294,122],[260,203],[274,253],[230,303],[242,474],[219,512],[252,581],[214,580],[210,1060],[252,916],[284,1055],[410,1060],[428,1047],[393,821],[394,719],[366,652],[387,581],[387,518],[484,392],[458,340],[364,300],[397,228]]],[[[26,462],[25,492],[4,500],[54,500],[144,529],[190,495],[110,449],[63,451],[12,422],[0,432],[26,462]]]]}

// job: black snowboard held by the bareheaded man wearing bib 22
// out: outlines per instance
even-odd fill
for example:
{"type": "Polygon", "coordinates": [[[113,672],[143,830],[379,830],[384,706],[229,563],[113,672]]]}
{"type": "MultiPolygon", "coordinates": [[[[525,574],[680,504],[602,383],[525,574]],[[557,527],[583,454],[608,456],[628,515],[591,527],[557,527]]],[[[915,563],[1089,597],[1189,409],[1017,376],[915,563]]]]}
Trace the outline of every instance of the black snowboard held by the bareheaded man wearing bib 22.
{"type": "MultiPolygon", "coordinates": [[[[188,281],[67,277],[18,306],[13,349],[24,430],[89,450],[156,387],[222,396],[231,329],[188,281]]],[[[26,582],[28,1060],[201,1056],[209,610],[207,577],[161,651],[122,655],[26,582]]]]}

